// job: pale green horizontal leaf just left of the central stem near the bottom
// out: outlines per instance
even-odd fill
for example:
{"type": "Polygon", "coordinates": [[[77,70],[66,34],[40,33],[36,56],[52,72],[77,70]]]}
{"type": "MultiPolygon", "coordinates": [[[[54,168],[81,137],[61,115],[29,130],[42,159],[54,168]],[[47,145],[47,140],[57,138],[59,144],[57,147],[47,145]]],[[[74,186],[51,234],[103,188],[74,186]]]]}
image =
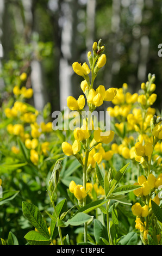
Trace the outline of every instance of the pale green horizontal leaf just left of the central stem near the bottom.
{"type": "Polygon", "coordinates": [[[78,214],[74,215],[71,219],[69,219],[67,222],[65,222],[65,225],[82,225],[86,222],[89,222],[93,219],[93,216],[90,216],[88,214],[84,214],[84,212],[79,212],[78,214]]]}

